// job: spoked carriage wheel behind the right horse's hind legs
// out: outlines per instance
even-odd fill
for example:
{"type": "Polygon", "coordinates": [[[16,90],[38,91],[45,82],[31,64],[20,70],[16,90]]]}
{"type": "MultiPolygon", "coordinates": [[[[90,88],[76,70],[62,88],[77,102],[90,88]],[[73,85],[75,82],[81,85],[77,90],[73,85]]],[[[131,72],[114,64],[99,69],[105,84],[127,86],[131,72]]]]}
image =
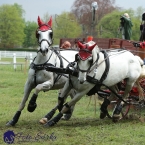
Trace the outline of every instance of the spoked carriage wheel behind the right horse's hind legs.
{"type": "MultiPolygon", "coordinates": [[[[115,109],[116,105],[118,104],[118,102],[119,102],[119,100],[111,101],[110,105],[107,107],[107,117],[108,118],[113,119],[113,112],[114,112],[114,109],[115,109]]],[[[124,103],[123,107],[122,107],[122,111],[120,113],[119,120],[126,118],[128,112],[129,112],[129,109],[130,109],[130,104],[124,103]]]]}

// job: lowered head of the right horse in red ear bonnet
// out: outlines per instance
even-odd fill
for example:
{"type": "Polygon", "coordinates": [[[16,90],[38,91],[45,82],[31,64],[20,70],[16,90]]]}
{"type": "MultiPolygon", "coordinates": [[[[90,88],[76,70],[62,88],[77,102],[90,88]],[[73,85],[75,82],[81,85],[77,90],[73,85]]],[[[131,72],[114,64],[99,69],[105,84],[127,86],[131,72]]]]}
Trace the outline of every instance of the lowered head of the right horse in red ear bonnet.
{"type": "Polygon", "coordinates": [[[79,53],[76,55],[76,61],[79,70],[78,80],[81,84],[83,84],[86,81],[86,75],[92,66],[92,51],[96,45],[97,43],[94,43],[90,46],[88,43],[82,44],[78,42],[78,47],[80,48],[80,50],[79,53]]]}

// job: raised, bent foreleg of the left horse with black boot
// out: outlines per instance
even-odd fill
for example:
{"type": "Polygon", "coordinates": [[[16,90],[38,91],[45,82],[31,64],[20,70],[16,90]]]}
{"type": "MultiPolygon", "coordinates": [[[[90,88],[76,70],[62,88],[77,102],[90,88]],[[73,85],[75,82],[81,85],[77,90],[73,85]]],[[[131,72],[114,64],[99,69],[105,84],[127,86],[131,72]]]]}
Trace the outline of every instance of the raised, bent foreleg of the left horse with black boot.
{"type": "Polygon", "coordinates": [[[40,91],[48,91],[51,89],[51,87],[53,86],[53,84],[51,83],[52,81],[46,81],[42,84],[38,84],[35,88],[35,92],[34,94],[32,95],[30,101],[29,101],[29,104],[28,104],[28,107],[27,107],[27,110],[29,112],[33,112],[36,107],[37,107],[37,104],[36,104],[36,100],[37,100],[37,97],[38,97],[38,93],[40,91]]]}

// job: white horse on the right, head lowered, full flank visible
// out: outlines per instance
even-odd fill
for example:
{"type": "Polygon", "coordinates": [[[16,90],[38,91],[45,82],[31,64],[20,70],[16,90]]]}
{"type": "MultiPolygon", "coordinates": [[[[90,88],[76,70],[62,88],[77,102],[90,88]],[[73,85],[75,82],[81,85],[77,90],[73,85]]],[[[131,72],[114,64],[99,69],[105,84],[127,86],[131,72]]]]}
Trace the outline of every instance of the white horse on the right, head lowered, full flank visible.
{"type": "MultiPolygon", "coordinates": [[[[82,96],[87,94],[91,89],[96,89],[97,92],[103,84],[114,90],[113,88],[117,83],[126,79],[126,88],[122,98],[127,97],[141,74],[143,61],[139,61],[137,57],[127,50],[112,50],[105,53],[99,51],[98,47],[95,47],[96,44],[87,47],[78,42],[78,45],[80,48],[76,56],[76,68],[79,71],[78,77],[69,77],[60,97],[65,97],[72,87],[77,93],[70,102],[63,106],[57,116],[45,124],[46,127],[55,125],[63,116],[63,113],[76,104],[82,96]]],[[[110,103],[109,99],[104,99],[101,106],[101,119],[107,115],[106,111],[110,103]]],[[[121,104],[116,106],[114,116],[120,114],[120,111],[121,104]]]]}

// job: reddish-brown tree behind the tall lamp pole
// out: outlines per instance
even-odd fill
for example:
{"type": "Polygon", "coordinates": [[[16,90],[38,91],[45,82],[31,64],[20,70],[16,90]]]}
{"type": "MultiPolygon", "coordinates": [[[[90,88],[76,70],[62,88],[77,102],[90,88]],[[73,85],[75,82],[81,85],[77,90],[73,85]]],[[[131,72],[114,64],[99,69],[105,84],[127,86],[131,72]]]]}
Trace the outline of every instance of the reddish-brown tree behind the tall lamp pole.
{"type": "MultiPolygon", "coordinates": [[[[92,23],[92,6],[94,0],[75,0],[71,11],[76,16],[80,24],[83,25],[86,34],[90,35],[91,29],[93,29],[100,19],[106,14],[115,10],[113,4],[115,0],[95,0],[98,4],[98,9],[95,12],[96,20],[92,23]]],[[[94,30],[95,31],[95,30],[94,30]]],[[[95,33],[94,33],[95,34],[95,33]]]]}

